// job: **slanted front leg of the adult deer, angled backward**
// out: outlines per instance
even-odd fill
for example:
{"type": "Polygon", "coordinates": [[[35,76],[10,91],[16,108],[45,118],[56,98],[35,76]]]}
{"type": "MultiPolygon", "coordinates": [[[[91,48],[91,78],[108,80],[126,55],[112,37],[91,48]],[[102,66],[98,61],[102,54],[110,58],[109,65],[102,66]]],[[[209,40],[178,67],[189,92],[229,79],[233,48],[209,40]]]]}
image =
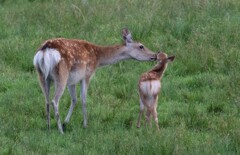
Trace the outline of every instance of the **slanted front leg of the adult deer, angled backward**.
{"type": "Polygon", "coordinates": [[[65,118],[63,127],[65,127],[65,125],[66,125],[67,123],[69,123],[69,120],[70,120],[70,118],[71,118],[73,109],[74,109],[74,107],[75,107],[75,105],[76,105],[76,102],[77,102],[76,85],[68,86],[68,91],[69,91],[70,96],[71,96],[71,106],[70,106],[70,108],[69,108],[69,110],[68,110],[68,114],[67,114],[67,117],[65,118]]]}

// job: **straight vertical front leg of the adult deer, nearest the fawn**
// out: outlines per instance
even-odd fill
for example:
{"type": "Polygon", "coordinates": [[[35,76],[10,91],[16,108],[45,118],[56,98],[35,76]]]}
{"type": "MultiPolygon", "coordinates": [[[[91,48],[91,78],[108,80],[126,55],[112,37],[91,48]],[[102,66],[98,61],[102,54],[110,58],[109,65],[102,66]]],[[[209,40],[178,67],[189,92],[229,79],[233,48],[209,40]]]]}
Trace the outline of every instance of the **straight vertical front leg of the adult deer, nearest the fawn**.
{"type": "Polygon", "coordinates": [[[89,85],[89,78],[82,80],[81,84],[81,99],[82,99],[82,112],[83,112],[83,126],[87,127],[87,90],[89,85]]]}

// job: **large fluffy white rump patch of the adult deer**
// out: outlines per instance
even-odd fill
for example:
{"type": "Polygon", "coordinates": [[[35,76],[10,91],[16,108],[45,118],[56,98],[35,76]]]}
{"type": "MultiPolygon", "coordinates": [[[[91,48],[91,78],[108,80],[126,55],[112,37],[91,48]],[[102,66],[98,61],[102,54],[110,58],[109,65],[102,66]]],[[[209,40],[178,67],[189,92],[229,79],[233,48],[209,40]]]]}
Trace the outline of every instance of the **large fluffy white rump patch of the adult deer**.
{"type": "Polygon", "coordinates": [[[39,67],[45,78],[49,75],[49,72],[59,63],[61,55],[58,50],[52,48],[46,48],[44,51],[40,50],[36,53],[33,59],[35,67],[39,67]]]}

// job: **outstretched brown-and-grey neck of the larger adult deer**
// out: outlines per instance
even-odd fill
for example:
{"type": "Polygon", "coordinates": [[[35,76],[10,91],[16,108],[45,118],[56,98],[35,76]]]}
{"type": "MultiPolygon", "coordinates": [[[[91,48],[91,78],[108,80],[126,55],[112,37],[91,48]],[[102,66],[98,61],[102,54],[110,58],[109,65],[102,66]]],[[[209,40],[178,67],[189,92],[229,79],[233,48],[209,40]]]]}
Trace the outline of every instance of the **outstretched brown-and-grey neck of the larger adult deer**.
{"type": "Polygon", "coordinates": [[[124,45],[115,46],[97,46],[96,55],[98,57],[98,66],[105,66],[114,64],[118,61],[130,59],[126,54],[126,47],[124,45]]]}

